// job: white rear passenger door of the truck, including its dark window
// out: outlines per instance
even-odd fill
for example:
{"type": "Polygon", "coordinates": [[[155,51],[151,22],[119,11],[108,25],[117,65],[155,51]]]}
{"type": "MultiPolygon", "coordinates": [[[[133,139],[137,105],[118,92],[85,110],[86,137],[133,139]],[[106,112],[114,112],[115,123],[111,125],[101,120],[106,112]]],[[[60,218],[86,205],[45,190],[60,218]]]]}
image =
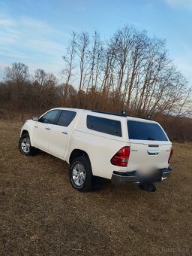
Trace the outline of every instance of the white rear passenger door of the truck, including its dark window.
{"type": "Polygon", "coordinates": [[[76,111],[63,110],[57,123],[52,125],[49,153],[55,157],[64,158],[76,114],[76,111]]]}

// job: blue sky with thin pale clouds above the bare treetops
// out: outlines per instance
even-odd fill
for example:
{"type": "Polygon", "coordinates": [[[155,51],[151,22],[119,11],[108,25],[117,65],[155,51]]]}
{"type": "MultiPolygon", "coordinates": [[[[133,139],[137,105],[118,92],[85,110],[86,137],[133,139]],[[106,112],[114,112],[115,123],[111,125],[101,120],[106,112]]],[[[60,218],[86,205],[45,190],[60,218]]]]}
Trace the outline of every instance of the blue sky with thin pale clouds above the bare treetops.
{"type": "Polygon", "coordinates": [[[0,0],[0,81],[13,62],[59,76],[71,32],[97,30],[105,40],[125,24],[165,38],[192,85],[192,0],[0,0]]]}

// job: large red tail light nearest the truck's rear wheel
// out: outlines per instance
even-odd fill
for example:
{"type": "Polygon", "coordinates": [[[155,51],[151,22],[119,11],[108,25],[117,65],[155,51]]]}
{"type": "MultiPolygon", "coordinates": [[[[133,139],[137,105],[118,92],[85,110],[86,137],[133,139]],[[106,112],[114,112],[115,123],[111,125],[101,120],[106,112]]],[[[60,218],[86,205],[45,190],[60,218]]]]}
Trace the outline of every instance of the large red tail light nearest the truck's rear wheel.
{"type": "Polygon", "coordinates": [[[114,166],[126,167],[130,155],[130,147],[121,148],[111,159],[111,163],[114,166]]]}

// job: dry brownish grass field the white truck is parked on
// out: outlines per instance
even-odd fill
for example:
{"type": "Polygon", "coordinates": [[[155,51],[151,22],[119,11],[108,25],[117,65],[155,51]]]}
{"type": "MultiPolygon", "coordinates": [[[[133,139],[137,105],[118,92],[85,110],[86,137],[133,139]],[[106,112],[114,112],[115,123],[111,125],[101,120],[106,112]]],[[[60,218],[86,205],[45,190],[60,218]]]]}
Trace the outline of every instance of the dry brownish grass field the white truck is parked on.
{"type": "Polygon", "coordinates": [[[80,194],[68,165],[20,154],[21,123],[0,121],[0,255],[192,254],[192,145],[175,144],[155,193],[137,186],[80,194]]]}

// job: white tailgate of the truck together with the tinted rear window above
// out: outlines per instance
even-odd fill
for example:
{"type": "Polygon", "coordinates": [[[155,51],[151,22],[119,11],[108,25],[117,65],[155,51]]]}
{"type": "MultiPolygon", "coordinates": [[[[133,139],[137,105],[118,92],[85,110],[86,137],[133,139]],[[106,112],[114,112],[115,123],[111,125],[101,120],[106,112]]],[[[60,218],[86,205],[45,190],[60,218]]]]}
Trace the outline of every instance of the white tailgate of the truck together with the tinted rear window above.
{"type": "Polygon", "coordinates": [[[130,139],[130,157],[127,170],[149,174],[169,166],[171,142],[163,128],[149,120],[127,120],[130,139]]]}

